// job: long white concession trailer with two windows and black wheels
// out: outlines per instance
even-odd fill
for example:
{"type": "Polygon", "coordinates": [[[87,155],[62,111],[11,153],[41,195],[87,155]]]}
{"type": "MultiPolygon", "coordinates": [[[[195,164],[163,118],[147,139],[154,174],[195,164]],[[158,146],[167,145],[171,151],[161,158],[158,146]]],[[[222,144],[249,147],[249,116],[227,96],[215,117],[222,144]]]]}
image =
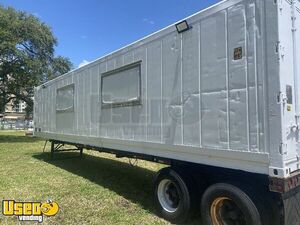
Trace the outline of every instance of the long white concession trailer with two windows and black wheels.
{"type": "Polygon", "coordinates": [[[300,2],[226,0],[35,88],[35,136],[144,159],[159,214],[300,224],[300,2]]]}

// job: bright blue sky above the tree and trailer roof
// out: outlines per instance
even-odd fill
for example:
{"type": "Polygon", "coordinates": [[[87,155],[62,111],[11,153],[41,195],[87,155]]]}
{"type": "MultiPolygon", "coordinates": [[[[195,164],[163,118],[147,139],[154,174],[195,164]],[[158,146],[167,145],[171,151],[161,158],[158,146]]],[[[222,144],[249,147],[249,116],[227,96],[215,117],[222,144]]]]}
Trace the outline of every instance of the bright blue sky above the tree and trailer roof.
{"type": "Polygon", "coordinates": [[[218,0],[2,0],[32,13],[58,39],[57,55],[77,67],[183,19],[218,0]]]}

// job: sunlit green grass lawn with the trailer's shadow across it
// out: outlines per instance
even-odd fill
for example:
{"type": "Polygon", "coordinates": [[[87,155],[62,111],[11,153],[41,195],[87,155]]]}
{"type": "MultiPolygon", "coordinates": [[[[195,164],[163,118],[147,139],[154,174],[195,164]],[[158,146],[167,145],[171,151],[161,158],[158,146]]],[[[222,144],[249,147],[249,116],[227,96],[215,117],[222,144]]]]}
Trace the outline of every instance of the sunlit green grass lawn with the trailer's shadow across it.
{"type": "MultiPolygon", "coordinates": [[[[58,202],[59,213],[43,224],[169,224],[155,215],[152,202],[161,165],[139,161],[133,167],[128,159],[86,150],[83,159],[59,153],[50,160],[50,146],[42,153],[43,145],[24,132],[0,132],[0,200],[58,202]]],[[[24,222],[1,213],[0,224],[24,222]]]]}

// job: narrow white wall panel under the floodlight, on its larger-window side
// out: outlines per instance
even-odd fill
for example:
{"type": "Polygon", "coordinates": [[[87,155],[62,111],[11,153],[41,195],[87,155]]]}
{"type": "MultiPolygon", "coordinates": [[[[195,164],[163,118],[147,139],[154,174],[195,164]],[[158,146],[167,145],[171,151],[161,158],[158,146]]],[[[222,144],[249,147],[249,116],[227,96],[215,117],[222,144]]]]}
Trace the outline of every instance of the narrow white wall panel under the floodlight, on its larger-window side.
{"type": "Polygon", "coordinates": [[[181,44],[181,36],[175,32],[162,40],[163,143],[175,145],[183,142],[181,44]]]}

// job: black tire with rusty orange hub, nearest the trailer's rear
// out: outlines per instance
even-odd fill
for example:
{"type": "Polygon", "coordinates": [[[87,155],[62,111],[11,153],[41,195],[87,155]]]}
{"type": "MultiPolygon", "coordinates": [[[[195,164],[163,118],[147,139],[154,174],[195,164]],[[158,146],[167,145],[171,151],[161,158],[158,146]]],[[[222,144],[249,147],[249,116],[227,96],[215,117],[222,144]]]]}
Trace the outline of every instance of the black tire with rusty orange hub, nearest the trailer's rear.
{"type": "Polygon", "coordinates": [[[249,196],[245,191],[231,184],[219,183],[210,186],[201,200],[202,223],[205,225],[268,225],[262,221],[261,207],[257,205],[259,203],[249,196]],[[213,222],[214,220],[222,223],[213,222]]]}

